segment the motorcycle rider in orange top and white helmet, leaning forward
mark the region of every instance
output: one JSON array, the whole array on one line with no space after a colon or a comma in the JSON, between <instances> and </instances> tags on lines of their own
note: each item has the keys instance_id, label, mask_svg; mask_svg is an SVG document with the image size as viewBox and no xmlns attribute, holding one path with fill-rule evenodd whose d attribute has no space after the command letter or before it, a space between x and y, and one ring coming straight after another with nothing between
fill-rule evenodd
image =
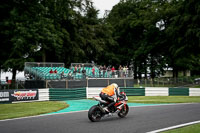
<instances>
[{"instance_id":1,"label":"motorcycle rider in orange top and white helmet, leaning forward","mask_svg":"<svg viewBox=\"0 0 200 133\"><path fill-rule=\"evenodd\" d=\"M116 101L120 97L120 90L116 83L112 83L107 87L103 88L101 93L99 94L102 100L109 102L108 106L104 107L106 112L110 112L110 107L115 105ZM114 97L113 97L114 96Z\"/></svg>"}]
</instances>

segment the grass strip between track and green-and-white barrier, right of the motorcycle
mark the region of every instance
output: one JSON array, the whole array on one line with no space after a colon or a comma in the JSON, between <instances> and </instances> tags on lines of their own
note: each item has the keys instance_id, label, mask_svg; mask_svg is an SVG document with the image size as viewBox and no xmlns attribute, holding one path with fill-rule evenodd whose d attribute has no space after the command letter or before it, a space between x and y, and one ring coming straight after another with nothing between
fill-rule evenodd
<instances>
[{"instance_id":1,"label":"grass strip between track and green-and-white barrier, right of the motorcycle","mask_svg":"<svg viewBox=\"0 0 200 133\"><path fill-rule=\"evenodd\" d=\"M200 103L200 96L129 96L130 103Z\"/></svg>"}]
</instances>

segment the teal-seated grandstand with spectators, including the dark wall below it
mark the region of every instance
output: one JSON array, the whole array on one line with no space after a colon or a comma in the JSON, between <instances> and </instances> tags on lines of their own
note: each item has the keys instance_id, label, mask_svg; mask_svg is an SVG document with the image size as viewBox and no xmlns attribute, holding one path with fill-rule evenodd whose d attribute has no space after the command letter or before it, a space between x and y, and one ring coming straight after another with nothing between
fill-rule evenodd
<instances>
[{"instance_id":1,"label":"teal-seated grandstand with spectators, including the dark wall below it","mask_svg":"<svg viewBox=\"0 0 200 133\"><path fill-rule=\"evenodd\" d=\"M117 82L123 87L133 86L133 72L125 66L116 70L114 66L99 66L93 63L26 62L25 88L76 88L88 86L106 86Z\"/></svg>"}]
</instances>

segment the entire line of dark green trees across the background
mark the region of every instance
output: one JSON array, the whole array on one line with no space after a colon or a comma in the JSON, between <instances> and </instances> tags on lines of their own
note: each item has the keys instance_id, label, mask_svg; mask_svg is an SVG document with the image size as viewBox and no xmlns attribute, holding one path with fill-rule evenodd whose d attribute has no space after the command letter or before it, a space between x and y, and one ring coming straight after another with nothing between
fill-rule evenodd
<instances>
[{"instance_id":1,"label":"entire line of dark green trees across the background","mask_svg":"<svg viewBox=\"0 0 200 133\"><path fill-rule=\"evenodd\" d=\"M128 65L134 77L166 68L200 74L199 0L121 0L98 18L91 0L0 2L0 67L24 62Z\"/></svg>"}]
</instances>

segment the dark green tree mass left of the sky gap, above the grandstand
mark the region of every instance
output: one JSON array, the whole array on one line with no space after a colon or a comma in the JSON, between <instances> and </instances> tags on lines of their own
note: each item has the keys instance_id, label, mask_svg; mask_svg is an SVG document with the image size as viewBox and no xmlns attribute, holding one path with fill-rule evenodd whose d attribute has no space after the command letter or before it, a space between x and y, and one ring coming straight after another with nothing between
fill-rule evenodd
<instances>
[{"instance_id":1,"label":"dark green tree mass left of the sky gap, above the grandstand","mask_svg":"<svg viewBox=\"0 0 200 133\"><path fill-rule=\"evenodd\" d=\"M28 61L98 61L114 45L89 0L6 1L0 10L1 66L15 73Z\"/></svg>"}]
</instances>

